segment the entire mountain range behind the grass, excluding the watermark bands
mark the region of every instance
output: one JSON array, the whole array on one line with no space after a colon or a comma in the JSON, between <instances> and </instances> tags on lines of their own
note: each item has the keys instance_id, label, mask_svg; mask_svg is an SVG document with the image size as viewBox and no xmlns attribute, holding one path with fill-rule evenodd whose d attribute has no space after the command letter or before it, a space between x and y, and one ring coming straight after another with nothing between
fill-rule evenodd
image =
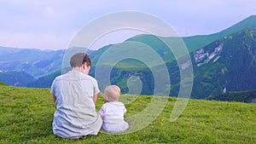
<instances>
[{"instance_id":1,"label":"entire mountain range behind the grass, excluding the watermark bands","mask_svg":"<svg viewBox=\"0 0 256 144\"><path fill-rule=\"evenodd\" d=\"M193 63L195 79L191 97L204 99L226 92L256 89L256 84L253 83L256 81L256 75L253 74L256 73L255 37L256 15L251 15L220 32L181 37L189 50ZM172 40L176 37L164 38ZM165 43L160 42L157 36L148 34L130 37L125 42L147 44L160 55L168 66L171 76L170 95L177 96L177 89L180 86L177 61L172 52L166 51ZM95 64L93 66L96 66L101 55L113 45L115 44L87 51ZM83 51L85 48L75 49ZM61 66L64 66L63 57L67 50L19 49L0 46L0 81L12 86L49 88L52 80L62 73ZM131 66L136 68L131 70ZM90 75L94 76L95 68L92 67ZM143 83L142 95L152 95L154 76L150 69L141 62L122 60L113 67L112 71L112 83L118 84L124 93L128 92L125 84L127 76L139 76Z\"/></svg>"}]
</instances>

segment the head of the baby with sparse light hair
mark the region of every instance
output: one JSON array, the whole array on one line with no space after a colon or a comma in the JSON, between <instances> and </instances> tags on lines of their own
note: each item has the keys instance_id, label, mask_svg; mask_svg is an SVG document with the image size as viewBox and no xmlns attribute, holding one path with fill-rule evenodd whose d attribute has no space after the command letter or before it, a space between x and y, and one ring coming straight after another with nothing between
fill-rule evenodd
<instances>
[{"instance_id":1,"label":"head of the baby with sparse light hair","mask_svg":"<svg viewBox=\"0 0 256 144\"><path fill-rule=\"evenodd\" d=\"M104 90L104 99L108 102L119 101L121 90L117 85L108 85Z\"/></svg>"}]
</instances>

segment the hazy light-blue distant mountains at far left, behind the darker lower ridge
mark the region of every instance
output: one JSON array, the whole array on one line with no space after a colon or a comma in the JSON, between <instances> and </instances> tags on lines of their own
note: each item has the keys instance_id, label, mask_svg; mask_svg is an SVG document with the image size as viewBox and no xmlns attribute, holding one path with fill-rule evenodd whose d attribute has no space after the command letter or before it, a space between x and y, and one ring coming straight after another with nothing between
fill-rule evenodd
<instances>
[{"instance_id":1,"label":"hazy light-blue distant mountains at far left, behind the darker lower ridge","mask_svg":"<svg viewBox=\"0 0 256 144\"><path fill-rule=\"evenodd\" d=\"M0 47L0 70L26 71L38 78L61 69L65 50L16 49Z\"/></svg>"}]
</instances>

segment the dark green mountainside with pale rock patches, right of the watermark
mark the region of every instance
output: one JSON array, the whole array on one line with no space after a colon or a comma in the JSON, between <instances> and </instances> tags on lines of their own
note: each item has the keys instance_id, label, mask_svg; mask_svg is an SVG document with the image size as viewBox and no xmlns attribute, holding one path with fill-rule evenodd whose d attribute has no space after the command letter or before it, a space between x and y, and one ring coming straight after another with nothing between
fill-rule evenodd
<instances>
[{"instance_id":1,"label":"dark green mountainside with pale rock patches, right of the watermark","mask_svg":"<svg viewBox=\"0 0 256 144\"><path fill-rule=\"evenodd\" d=\"M256 29L245 29L191 53L194 98L256 89Z\"/></svg>"}]
</instances>

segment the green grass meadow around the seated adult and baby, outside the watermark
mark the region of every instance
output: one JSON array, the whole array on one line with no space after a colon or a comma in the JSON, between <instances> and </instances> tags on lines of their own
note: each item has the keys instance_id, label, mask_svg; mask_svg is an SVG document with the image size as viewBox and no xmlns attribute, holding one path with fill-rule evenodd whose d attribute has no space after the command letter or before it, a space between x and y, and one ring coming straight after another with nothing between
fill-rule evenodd
<instances>
[{"instance_id":1,"label":"green grass meadow around the seated adult and baby, outside the watermark","mask_svg":"<svg viewBox=\"0 0 256 144\"><path fill-rule=\"evenodd\" d=\"M143 111L153 96L131 96L127 116ZM121 100L122 100L121 99ZM127 100L127 99L126 99ZM55 107L49 89L27 89L0 84L0 143L255 143L256 105L240 102L189 100L177 121L169 121L176 98L142 130L82 140L62 139L52 133ZM104 103L99 96L96 109ZM132 125L131 125L132 126Z\"/></svg>"}]
</instances>

